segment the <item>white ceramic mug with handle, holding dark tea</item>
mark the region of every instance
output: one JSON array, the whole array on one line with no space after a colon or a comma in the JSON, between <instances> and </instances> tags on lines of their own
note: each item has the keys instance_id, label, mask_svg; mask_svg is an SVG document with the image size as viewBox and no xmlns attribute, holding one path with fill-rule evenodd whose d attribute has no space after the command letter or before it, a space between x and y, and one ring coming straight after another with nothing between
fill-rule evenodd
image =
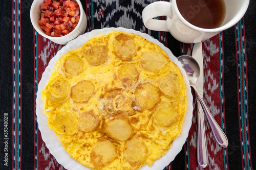
<instances>
[{"instance_id":1,"label":"white ceramic mug with handle, holding dark tea","mask_svg":"<svg viewBox=\"0 0 256 170\"><path fill-rule=\"evenodd\" d=\"M196 43L235 25L245 14L249 0L223 0L223 3L224 20L220 27L214 29L199 28L185 20L178 10L176 0L171 0L170 3L159 1L146 6L142 11L142 19L145 27L150 30L168 31L181 42ZM193 9L190 12L193 12ZM166 20L154 19L158 16L167 17Z\"/></svg>"}]
</instances>

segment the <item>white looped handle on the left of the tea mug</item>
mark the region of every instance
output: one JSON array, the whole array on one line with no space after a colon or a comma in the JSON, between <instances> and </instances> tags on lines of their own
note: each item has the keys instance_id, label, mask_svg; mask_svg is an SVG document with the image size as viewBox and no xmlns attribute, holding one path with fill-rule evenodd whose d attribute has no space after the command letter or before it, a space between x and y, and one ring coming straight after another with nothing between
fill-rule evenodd
<instances>
[{"instance_id":1,"label":"white looped handle on the left of the tea mug","mask_svg":"<svg viewBox=\"0 0 256 170\"><path fill-rule=\"evenodd\" d=\"M153 19L158 16L171 18L172 3L158 1L146 6L142 11L142 19L146 28L155 31L169 31L166 20Z\"/></svg>"}]
</instances>

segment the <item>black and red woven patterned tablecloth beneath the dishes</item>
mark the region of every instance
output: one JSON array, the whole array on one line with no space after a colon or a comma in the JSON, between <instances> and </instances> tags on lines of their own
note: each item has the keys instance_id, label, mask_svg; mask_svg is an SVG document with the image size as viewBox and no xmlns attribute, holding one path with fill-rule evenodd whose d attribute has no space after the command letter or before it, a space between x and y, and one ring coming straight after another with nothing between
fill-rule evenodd
<instances>
[{"instance_id":1,"label":"black and red woven patterned tablecloth beneath the dishes","mask_svg":"<svg viewBox=\"0 0 256 170\"><path fill-rule=\"evenodd\" d=\"M0 11L0 169L65 169L42 141L35 114L42 72L63 45L33 29L29 16L32 2L2 1ZM152 2L82 1L88 17L86 32L105 27L134 29L158 39L177 57L191 55L193 44L144 27L141 12ZM209 153L205 169L253 169L256 165L255 38L256 2L250 1L235 26L202 42L204 100L229 140L226 149L220 147L205 119ZM183 149L165 169L199 169L195 109Z\"/></svg>"}]
</instances>

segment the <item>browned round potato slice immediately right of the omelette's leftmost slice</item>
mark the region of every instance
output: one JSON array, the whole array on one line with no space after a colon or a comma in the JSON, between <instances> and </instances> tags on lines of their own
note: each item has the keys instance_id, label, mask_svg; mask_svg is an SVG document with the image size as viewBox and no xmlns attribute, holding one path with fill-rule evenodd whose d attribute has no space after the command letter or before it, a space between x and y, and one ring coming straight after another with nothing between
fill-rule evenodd
<instances>
[{"instance_id":1,"label":"browned round potato slice immediately right of the omelette's leftmost slice","mask_svg":"<svg viewBox=\"0 0 256 170\"><path fill-rule=\"evenodd\" d=\"M87 102L94 92L94 85L87 80L79 81L71 87L71 98L75 102Z\"/></svg>"}]
</instances>

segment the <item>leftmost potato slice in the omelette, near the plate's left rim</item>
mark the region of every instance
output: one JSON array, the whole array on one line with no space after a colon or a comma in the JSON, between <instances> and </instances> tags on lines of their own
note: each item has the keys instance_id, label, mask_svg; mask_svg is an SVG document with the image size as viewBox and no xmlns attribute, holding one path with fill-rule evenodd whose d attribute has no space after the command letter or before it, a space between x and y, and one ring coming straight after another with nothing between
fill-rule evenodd
<instances>
[{"instance_id":1,"label":"leftmost potato slice in the omelette, near the plate's left rim","mask_svg":"<svg viewBox=\"0 0 256 170\"><path fill-rule=\"evenodd\" d=\"M47 90L57 99L67 98L70 85L67 80L58 78L47 87Z\"/></svg>"}]
</instances>

